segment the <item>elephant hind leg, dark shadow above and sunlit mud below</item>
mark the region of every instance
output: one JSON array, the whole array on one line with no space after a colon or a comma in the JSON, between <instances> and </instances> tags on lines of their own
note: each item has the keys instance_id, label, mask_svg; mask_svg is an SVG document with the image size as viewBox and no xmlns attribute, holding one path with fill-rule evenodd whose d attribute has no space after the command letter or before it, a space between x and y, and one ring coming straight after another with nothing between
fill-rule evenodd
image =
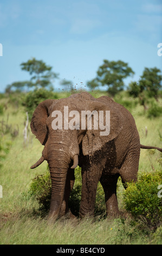
<instances>
[{"instance_id":1,"label":"elephant hind leg, dark shadow above and sunlit mud below","mask_svg":"<svg viewBox=\"0 0 162 256\"><path fill-rule=\"evenodd\" d=\"M119 216L118 200L116 197L116 184L119 174L112 176L101 175L100 182L105 192L106 216Z\"/></svg>"}]
</instances>

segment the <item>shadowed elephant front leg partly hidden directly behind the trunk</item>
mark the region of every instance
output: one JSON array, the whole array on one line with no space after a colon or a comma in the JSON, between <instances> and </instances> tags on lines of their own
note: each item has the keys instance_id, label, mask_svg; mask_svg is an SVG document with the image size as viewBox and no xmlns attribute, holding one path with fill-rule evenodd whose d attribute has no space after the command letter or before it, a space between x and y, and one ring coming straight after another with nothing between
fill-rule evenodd
<instances>
[{"instance_id":1,"label":"shadowed elephant front leg partly hidden directly behind the trunk","mask_svg":"<svg viewBox=\"0 0 162 256\"><path fill-rule=\"evenodd\" d=\"M75 217L68 208L68 200L70 197L70 192L73 189L74 182L75 182L74 169L69 168L68 172L67 172L66 185L64 188L64 198L63 198L63 202L61 205L60 216L63 216L65 214L69 213L70 217Z\"/></svg>"}]
</instances>

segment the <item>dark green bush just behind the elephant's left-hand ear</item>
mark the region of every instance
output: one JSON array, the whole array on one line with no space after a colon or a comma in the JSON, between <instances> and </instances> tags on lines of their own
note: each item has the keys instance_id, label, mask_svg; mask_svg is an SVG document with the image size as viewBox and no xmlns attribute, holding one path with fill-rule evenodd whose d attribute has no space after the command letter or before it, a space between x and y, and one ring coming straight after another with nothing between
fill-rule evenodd
<instances>
[{"instance_id":1,"label":"dark green bush just behind the elephant's left-hand ear","mask_svg":"<svg viewBox=\"0 0 162 256\"><path fill-rule=\"evenodd\" d=\"M30 120L38 104L48 99L58 99L58 95L44 88L35 89L25 95L22 105L25 106L25 111L28 112Z\"/></svg>"}]
</instances>

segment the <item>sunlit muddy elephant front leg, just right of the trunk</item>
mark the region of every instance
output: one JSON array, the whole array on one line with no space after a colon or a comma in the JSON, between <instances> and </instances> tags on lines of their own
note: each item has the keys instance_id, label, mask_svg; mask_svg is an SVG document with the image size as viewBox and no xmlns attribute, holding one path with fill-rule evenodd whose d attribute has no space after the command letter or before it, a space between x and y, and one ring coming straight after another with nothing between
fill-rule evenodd
<instances>
[{"instance_id":1,"label":"sunlit muddy elephant front leg, just right of the trunk","mask_svg":"<svg viewBox=\"0 0 162 256\"><path fill-rule=\"evenodd\" d=\"M82 166L80 217L94 215L96 190L102 171L99 169L95 164L91 164L88 168Z\"/></svg>"}]
</instances>

